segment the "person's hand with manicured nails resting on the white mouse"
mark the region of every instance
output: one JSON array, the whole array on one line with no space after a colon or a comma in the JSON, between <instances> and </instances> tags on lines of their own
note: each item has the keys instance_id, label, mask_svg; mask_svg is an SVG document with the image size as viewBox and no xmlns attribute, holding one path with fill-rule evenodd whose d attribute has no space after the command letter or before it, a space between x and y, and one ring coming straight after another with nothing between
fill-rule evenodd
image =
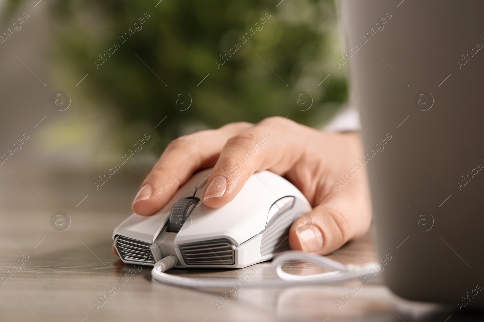
<instances>
[{"instance_id":1,"label":"person's hand with manicured nails resting on the white mouse","mask_svg":"<svg viewBox=\"0 0 484 322\"><path fill-rule=\"evenodd\" d=\"M264 135L270 139L263 148L240 164L237 158ZM355 132L326 133L282 117L266 118L256 125L231 123L170 142L141 185L133 210L139 215L161 210L195 171L211 167L202 202L221 207L239 193L254 172L267 169L286 177L314 207L305 223L298 220L292 224L291 248L324 255L362 236L370 225L366 169L347 176L344 186L335 184L354 168L360 155L361 139Z\"/></svg>"}]
</instances>

